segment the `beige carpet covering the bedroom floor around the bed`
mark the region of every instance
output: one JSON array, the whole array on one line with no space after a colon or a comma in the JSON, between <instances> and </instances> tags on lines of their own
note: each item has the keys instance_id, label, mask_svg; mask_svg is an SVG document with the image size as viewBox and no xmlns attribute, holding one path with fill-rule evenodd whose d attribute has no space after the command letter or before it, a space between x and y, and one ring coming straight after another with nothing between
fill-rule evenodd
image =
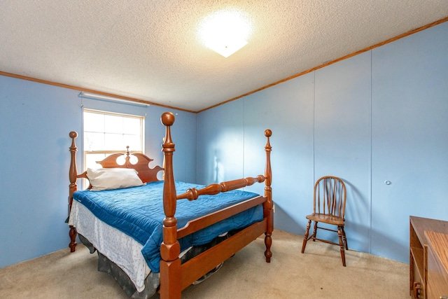
<instances>
[{"instance_id":1,"label":"beige carpet covering the bedroom floor around the bed","mask_svg":"<svg viewBox=\"0 0 448 299\"><path fill-rule=\"evenodd\" d=\"M302 254L302 236L275 230L272 237L271 263L256 239L182 298L409 298L405 263L346 251L342 267L338 246L309 242ZM127 298L82 245L0 269L0 298L75 297Z\"/></svg>"}]
</instances>

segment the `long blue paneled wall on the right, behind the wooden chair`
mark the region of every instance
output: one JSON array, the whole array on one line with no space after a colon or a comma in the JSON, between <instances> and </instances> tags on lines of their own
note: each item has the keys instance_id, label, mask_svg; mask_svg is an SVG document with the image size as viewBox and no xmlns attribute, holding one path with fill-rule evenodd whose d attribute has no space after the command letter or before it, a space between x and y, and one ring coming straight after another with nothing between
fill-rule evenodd
<instances>
[{"instance_id":1,"label":"long blue paneled wall on the right, behind the wooden chair","mask_svg":"<svg viewBox=\"0 0 448 299\"><path fill-rule=\"evenodd\" d=\"M303 235L314 181L340 176L349 248L407 262L409 215L448 221L447 49L445 22L200 113L197 181L262 174L269 128L276 228Z\"/></svg>"}]
</instances>

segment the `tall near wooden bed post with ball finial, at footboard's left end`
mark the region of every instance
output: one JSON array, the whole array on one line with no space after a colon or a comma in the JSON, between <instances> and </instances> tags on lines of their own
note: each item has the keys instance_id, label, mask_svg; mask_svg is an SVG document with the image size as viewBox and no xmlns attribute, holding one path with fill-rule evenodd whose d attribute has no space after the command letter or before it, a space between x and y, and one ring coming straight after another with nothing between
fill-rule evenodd
<instances>
[{"instance_id":1,"label":"tall near wooden bed post with ball finial, at footboard's left end","mask_svg":"<svg viewBox=\"0 0 448 299\"><path fill-rule=\"evenodd\" d=\"M165 112L160 120L166 126L165 142L162 151L165 155L165 183L163 187L163 242L160 246L160 298L181 298L181 245L177 241L176 185L173 174L174 143L170 127L174 123L174 114Z\"/></svg>"}]
</instances>

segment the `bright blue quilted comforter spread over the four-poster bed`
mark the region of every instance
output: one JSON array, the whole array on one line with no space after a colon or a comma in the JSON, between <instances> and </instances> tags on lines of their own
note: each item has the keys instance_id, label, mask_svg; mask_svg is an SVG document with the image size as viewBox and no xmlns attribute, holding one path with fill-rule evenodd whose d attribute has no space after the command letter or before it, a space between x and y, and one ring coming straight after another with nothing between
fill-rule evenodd
<instances>
[{"instance_id":1,"label":"bright blue quilted comforter spread over the four-poster bed","mask_svg":"<svg viewBox=\"0 0 448 299\"><path fill-rule=\"evenodd\" d=\"M176 182L176 192L184 193L188 188L204 186ZM144 186L104 191L76 191L73 200L77 200L103 222L125 232L143 245L143 253L153 272L160 272L160 244L165 213L163 211L163 181L147 183ZM210 214L233 204L248 200L258 194L241 190L232 190L219 195L202 195L198 200L178 200L176 207L177 227L182 228L190 220ZM243 211L224 221L179 239L181 251L190 246L211 242L214 237L244 228L261 221L262 206Z\"/></svg>"}]
</instances>

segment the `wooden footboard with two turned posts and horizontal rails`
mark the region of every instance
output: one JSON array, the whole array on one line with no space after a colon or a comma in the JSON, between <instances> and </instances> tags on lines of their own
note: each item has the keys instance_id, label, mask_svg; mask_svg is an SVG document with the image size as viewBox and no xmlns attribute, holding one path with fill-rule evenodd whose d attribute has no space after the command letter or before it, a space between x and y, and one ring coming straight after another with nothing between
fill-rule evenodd
<instances>
[{"instance_id":1,"label":"wooden footboard with two turned posts and horizontal rails","mask_svg":"<svg viewBox=\"0 0 448 299\"><path fill-rule=\"evenodd\" d=\"M160 246L160 254L162 256L162 260L160 261L160 297L162 299L173 299L181 298L181 291L184 288L262 235L262 233L265 233L266 262L270 262L272 257L272 252L270 250L272 245L272 230L274 228L271 188L272 170L270 162L270 152L272 148L269 144L269 137L271 137L272 132L270 130L265 131L267 143L265 146L266 165L264 175L211 184L200 190L192 188L187 190L186 193L176 195L172 165L175 146L172 142L170 129L174 124L174 114L169 112L163 113L161 120L163 125L166 126L166 134L165 143L162 144L162 151L165 153L165 186L163 193L165 220L163 222L163 243L162 246ZM175 217L176 200L197 200L200 195L214 195L228 190L250 186L253 183L262 183L263 181L265 182L264 197L255 197L251 200L241 202L240 204L235 204L227 209L198 218L195 221L190 221L186 227L181 228L180 230L177 229L177 220ZM178 239L221 221L224 218L238 214L240 211L255 207L257 204L263 204L262 221L248 226L248 228L241 230L236 235L233 235L229 239L226 239L220 244L181 265L181 260L179 259L181 246Z\"/></svg>"}]
</instances>

